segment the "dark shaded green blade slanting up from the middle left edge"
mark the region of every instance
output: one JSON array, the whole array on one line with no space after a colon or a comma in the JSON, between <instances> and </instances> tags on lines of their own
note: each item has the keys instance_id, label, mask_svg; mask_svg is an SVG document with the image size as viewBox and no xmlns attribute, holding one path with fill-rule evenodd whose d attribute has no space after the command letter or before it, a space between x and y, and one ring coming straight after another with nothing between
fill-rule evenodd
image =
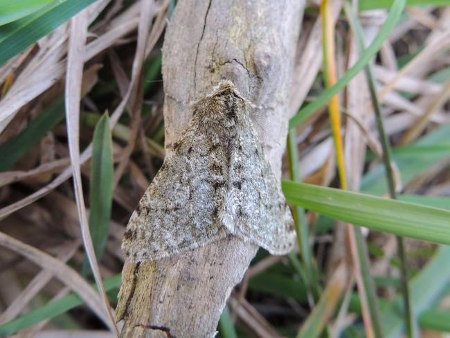
<instances>
[{"instance_id":1,"label":"dark shaded green blade slanting up from the middle left edge","mask_svg":"<svg viewBox=\"0 0 450 338\"><path fill-rule=\"evenodd\" d=\"M55 100L44 112L41 112L37 118L30 121L22 132L0 145L0 172L10 170L63 118L64 101L60 98Z\"/></svg>"}]
</instances>

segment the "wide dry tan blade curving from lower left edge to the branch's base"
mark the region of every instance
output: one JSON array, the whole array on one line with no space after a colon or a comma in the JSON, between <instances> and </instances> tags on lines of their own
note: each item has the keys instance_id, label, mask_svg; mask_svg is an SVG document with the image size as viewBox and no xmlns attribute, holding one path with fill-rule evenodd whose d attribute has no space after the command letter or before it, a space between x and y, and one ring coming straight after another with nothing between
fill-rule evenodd
<instances>
[{"instance_id":1,"label":"wide dry tan blade curving from lower left edge to the branch's base","mask_svg":"<svg viewBox=\"0 0 450 338\"><path fill-rule=\"evenodd\" d=\"M102 303L97 292L87 283L87 281L82 278L75 270L71 269L60 260L57 260L53 256L48 255L43 251L31 247L24 242L16 240L15 238L0 232L0 245L6 247L21 256L25 256L33 263L39 265L48 272L51 272L56 278L58 278L62 283L70 287L74 292L76 292L82 300L91 308L91 310L100 318L102 321L109 326L111 330L110 321L105 311L105 308L100 305Z\"/></svg>"}]
</instances>

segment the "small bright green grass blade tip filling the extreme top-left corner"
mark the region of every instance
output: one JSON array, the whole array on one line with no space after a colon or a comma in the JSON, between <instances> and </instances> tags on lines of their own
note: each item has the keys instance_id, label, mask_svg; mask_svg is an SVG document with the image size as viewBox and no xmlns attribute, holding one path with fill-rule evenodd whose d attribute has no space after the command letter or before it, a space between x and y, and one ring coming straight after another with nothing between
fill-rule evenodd
<instances>
[{"instance_id":1,"label":"small bright green grass blade tip filling the extreme top-left corner","mask_svg":"<svg viewBox=\"0 0 450 338\"><path fill-rule=\"evenodd\" d=\"M55 0L2 0L0 2L0 26L26 17Z\"/></svg>"}]
</instances>

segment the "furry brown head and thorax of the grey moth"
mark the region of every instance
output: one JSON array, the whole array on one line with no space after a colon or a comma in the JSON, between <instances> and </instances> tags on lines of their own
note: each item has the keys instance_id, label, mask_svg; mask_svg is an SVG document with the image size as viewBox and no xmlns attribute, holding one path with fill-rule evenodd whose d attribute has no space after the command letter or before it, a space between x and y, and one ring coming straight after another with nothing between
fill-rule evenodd
<instances>
[{"instance_id":1,"label":"furry brown head and thorax of the grey moth","mask_svg":"<svg viewBox=\"0 0 450 338\"><path fill-rule=\"evenodd\" d=\"M213 91L194 103L199 122L210 127L233 127L249 114L249 104L239 94L231 80L222 80Z\"/></svg>"}]
</instances>

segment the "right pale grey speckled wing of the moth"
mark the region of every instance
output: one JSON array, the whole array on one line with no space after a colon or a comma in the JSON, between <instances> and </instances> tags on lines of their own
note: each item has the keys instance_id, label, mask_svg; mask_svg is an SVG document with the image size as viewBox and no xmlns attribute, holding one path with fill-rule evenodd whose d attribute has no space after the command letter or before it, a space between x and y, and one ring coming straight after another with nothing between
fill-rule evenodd
<instances>
[{"instance_id":1,"label":"right pale grey speckled wing of the moth","mask_svg":"<svg viewBox=\"0 0 450 338\"><path fill-rule=\"evenodd\" d=\"M294 247L294 220L253 125L246 123L231 151L231 189L224 203L230 220L225 225L272 254L288 253Z\"/></svg>"}]
</instances>

